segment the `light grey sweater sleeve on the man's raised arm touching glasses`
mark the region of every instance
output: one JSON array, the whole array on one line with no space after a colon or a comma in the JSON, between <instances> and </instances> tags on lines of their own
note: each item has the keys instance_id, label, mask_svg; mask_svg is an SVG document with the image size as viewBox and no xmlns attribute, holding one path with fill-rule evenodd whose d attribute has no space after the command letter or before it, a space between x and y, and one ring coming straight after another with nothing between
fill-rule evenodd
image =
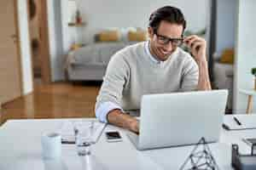
<instances>
[{"instance_id":1,"label":"light grey sweater sleeve on the man's raised arm touching glasses","mask_svg":"<svg viewBox=\"0 0 256 170\"><path fill-rule=\"evenodd\" d=\"M180 91L194 91L197 89L199 69L195 60L190 56L183 67L183 78Z\"/></svg>"}]
</instances>

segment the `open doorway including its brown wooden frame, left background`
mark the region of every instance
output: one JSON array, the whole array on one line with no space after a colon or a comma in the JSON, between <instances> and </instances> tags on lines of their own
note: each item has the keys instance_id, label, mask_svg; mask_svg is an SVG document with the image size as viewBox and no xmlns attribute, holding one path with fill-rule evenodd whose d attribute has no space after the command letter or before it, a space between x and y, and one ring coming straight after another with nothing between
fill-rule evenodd
<instances>
[{"instance_id":1,"label":"open doorway including its brown wooden frame, left background","mask_svg":"<svg viewBox=\"0 0 256 170\"><path fill-rule=\"evenodd\" d=\"M51 82L47 1L27 0L34 83ZM33 16L33 17L32 17ZM39 81L41 82L41 81Z\"/></svg>"}]
</instances>

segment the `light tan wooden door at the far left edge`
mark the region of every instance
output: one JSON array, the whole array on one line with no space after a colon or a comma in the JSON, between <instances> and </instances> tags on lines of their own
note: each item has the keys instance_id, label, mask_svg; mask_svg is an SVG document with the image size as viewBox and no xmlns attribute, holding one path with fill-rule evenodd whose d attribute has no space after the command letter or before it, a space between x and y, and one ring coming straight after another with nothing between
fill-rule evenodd
<instances>
[{"instance_id":1,"label":"light tan wooden door at the far left edge","mask_svg":"<svg viewBox=\"0 0 256 170\"><path fill-rule=\"evenodd\" d=\"M16 0L0 1L0 102L21 96Z\"/></svg>"}]
</instances>

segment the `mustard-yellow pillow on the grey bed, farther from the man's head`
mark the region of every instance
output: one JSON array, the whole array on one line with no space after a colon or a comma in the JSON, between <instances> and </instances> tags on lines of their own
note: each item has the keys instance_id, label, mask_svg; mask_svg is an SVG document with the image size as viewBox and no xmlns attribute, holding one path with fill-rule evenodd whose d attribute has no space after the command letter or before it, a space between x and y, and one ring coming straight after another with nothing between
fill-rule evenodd
<instances>
[{"instance_id":1,"label":"mustard-yellow pillow on the grey bed, farther from the man's head","mask_svg":"<svg viewBox=\"0 0 256 170\"><path fill-rule=\"evenodd\" d=\"M118 42L120 39L120 32L118 30L102 31L98 34L99 42Z\"/></svg>"}]
</instances>

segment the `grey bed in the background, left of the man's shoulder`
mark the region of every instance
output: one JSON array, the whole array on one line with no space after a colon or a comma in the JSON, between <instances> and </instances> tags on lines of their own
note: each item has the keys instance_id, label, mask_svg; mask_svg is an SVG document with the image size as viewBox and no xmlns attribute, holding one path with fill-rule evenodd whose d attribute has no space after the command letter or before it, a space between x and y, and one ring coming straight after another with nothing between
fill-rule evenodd
<instances>
[{"instance_id":1,"label":"grey bed in the background, left of the man's shoulder","mask_svg":"<svg viewBox=\"0 0 256 170\"><path fill-rule=\"evenodd\" d=\"M68 81L102 81L110 58L136 42L96 42L67 54Z\"/></svg>"}]
</instances>

